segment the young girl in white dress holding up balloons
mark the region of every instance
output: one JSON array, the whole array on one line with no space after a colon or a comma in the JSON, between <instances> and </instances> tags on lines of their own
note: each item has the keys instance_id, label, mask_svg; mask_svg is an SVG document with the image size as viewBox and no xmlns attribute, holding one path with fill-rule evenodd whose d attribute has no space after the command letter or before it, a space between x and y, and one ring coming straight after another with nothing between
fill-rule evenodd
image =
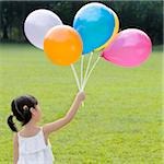
<instances>
[{"instance_id":1,"label":"young girl in white dress holding up balloons","mask_svg":"<svg viewBox=\"0 0 164 164\"><path fill-rule=\"evenodd\" d=\"M37 99L31 95L20 96L12 101L12 114L8 118L8 125L16 132L13 138L13 163L14 164L52 164L54 156L48 137L51 132L69 124L74 117L82 101L84 92L79 92L70 110L63 118L38 127L42 110ZM15 117L23 126L17 132Z\"/></svg>"}]
</instances>

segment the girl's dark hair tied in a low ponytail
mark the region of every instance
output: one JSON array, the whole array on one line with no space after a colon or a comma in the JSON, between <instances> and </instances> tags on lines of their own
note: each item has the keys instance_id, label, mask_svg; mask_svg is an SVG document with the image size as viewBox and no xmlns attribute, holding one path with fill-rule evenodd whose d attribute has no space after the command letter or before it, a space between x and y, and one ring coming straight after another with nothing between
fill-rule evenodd
<instances>
[{"instance_id":1,"label":"girl's dark hair tied in a low ponytail","mask_svg":"<svg viewBox=\"0 0 164 164\"><path fill-rule=\"evenodd\" d=\"M8 117L8 125L12 131L17 131L13 117L21 121L22 126L26 125L32 118L31 108L35 108L37 104L37 99L32 95L23 95L11 102L12 114Z\"/></svg>"}]
</instances>

